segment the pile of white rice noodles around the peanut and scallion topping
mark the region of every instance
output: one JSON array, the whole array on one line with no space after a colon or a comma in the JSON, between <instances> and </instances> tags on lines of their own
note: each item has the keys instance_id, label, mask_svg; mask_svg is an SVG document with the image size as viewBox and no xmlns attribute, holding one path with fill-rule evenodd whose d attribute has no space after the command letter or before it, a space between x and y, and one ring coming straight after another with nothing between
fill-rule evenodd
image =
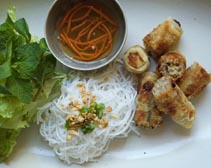
<instances>
[{"instance_id":1,"label":"pile of white rice noodles around the peanut and scallion topping","mask_svg":"<svg viewBox=\"0 0 211 168\"><path fill-rule=\"evenodd\" d=\"M104 153L110 141L116 137L127 137L131 131L135 111L135 77L129 74L119 61L94 72L72 72L72 78L64 81L61 95L54 101L39 108L37 121L41 135L49 142L56 155L67 164L82 164L95 161ZM71 98L81 101L76 86L81 81L86 89L96 95L96 102L111 106L112 112L106 113L108 127L96 127L90 134L78 135L66 140L66 116L70 114L65 107Z\"/></svg>"}]
</instances>

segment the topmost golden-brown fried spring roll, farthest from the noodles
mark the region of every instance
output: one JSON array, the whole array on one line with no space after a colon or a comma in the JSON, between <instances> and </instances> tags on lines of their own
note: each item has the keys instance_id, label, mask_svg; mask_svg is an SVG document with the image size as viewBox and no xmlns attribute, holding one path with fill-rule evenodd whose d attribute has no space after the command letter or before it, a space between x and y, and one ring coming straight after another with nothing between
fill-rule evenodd
<instances>
[{"instance_id":1,"label":"topmost golden-brown fried spring roll, farthest from the noodles","mask_svg":"<svg viewBox=\"0 0 211 168\"><path fill-rule=\"evenodd\" d=\"M178 21L167 18L144 37L143 42L148 54L159 59L180 40L182 32Z\"/></svg>"}]
</instances>

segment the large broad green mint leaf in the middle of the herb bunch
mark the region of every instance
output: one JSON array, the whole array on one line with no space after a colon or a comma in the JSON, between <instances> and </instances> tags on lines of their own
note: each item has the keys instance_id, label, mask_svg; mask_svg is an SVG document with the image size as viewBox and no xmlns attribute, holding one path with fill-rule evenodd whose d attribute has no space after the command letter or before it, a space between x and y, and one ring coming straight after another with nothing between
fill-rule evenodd
<instances>
[{"instance_id":1,"label":"large broad green mint leaf in the middle of the herb bunch","mask_svg":"<svg viewBox=\"0 0 211 168\"><path fill-rule=\"evenodd\" d=\"M30 79L34 75L43 51L37 43L30 43L15 50L15 58L12 68L17 76L22 79Z\"/></svg>"}]
</instances>

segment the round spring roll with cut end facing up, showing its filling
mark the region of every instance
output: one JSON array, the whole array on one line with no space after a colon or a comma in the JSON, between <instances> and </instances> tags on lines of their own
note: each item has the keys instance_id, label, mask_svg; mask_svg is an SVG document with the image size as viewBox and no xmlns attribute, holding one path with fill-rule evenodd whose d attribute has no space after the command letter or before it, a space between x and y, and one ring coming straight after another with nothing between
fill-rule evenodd
<instances>
[{"instance_id":1,"label":"round spring roll with cut end facing up, showing its filling","mask_svg":"<svg viewBox=\"0 0 211 168\"><path fill-rule=\"evenodd\" d=\"M186 70L186 59L176 51L170 51L161 56L156 68L159 76L171 76L174 81L181 78Z\"/></svg>"}]
</instances>

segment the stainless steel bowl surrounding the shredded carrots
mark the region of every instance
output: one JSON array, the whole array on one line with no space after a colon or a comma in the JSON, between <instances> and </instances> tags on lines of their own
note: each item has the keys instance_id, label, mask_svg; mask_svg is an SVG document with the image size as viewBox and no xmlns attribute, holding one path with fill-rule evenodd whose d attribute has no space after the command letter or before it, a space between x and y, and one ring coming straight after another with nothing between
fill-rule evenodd
<instances>
[{"instance_id":1,"label":"stainless steel bowl surrounding the shredded carrots","mask_svg":"<svg viewBox=\"0 0 211 168\"><path fill-rule=\"evenodd\" d=\"M98 4L101 3L103 6L108 7L110 9L113 19L115 19L119 26L118 33L116 35L117 38L114 42L113 50L110 52L109 55L102 59L90 62L78 61L76 59L73 59L71 55L69 55L70 53L64 50L63 44L58 39L58 22L65 15L67 10L71 8L71 6L83 1L84 0L55 1L50 7L46 19L45 36L49 49L58 61L60 61L62 64L69 68L85 71L98 69L107 65L120 53L120 50L122 49L126 40L127 25L123 9L117 0L109 0L109 2L107 0L86 0L86 2L89 1L89 3L92 4L96 2Z\"/></svg>"}]
</instances>

